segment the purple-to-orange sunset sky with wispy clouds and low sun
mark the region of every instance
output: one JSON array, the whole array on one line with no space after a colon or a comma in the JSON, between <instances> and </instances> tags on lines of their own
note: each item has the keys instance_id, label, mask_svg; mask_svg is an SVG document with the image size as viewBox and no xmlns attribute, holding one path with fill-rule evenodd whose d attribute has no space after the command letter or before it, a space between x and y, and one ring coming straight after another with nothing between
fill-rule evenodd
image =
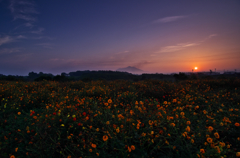
<instances>
[{"instance_id":1,"label":"purple-to-orange sunset sky with wispy clouds and low sun","mask_svg":"<svg viewBox=\"0 0 240 158\"><path fill-rule=\"evenodd\" d=\"M0 74L240 71L239 0L0 0Z\"/></svg>"}]
</instances>

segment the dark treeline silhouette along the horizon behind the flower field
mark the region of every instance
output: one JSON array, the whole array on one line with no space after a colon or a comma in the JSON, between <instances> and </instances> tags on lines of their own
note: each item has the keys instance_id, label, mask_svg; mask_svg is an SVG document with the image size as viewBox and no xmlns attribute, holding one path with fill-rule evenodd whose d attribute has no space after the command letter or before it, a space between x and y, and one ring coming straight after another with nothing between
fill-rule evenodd
<instances>
[{"instance_id":1,"label":"dark treeline silhouette along the horizon behind the flower field","mask_svg":"<svg viewBox=\"0 0 240 158\"><path fill-rule=\"evenodd\" d=\"M130 80L130 81L141 81L141 80L165 80L165 81L181 81L181 80L196 80L196 79L227 79L227 78L240 78L240 73L224 73L224 74L213 74L213 73L182 73L179 74L142 74L134 75L128 72L120 71L76 71L70 73L61 73L61 75L54 76L50 73L43 72L29 72L28 76L13 76L13 75L2 75L0 74L0 80L5 81L78 81L84 82L95 81L95 80Z\"/></svg>"}]
</instances>

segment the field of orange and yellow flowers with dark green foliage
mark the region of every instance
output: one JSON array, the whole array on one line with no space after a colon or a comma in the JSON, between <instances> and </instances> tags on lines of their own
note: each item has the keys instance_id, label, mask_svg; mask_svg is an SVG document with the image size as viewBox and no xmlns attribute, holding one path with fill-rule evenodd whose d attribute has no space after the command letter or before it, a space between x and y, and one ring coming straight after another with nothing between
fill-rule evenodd
<instances>
[{"instance_id":1,"label":"field of orange and yellow flowers with dark green foliage","mask_svg":"<svg viewBox=\"0 0 240 158\"><path fill-rule=\"evenodd\" d=\"M0 157L238 157L240 79L0 82Z\"/></svg>"}]
</instances>

